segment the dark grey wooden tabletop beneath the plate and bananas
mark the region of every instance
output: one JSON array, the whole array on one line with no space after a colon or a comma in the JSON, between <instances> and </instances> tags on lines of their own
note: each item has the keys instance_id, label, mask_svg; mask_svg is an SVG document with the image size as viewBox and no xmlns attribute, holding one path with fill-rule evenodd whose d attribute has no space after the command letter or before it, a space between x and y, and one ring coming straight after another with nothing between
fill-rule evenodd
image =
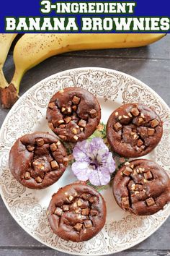
<instances>
[{"instance_id":1,"label":"dark grey wooden tabletop beneath the plate and bananas","mask_svg":"<svg viewBox=\"0 0 170 256\"><path fill-rule=\"evenodd\" d=\"M170 106L170 35L151 46L132 49L81 51L54 56L28 71L21 83L20 95L45 77L76 67L117 69L142 80ZM6 79L14 72L12 51L4 66ZM0 126L8 110L0 108ZM0 256L54 256L66 254L45 247L28 235L10 216L0 199ZM144 242L115 256L170 255L170 218Z\"/></svg>"}]
</instances>

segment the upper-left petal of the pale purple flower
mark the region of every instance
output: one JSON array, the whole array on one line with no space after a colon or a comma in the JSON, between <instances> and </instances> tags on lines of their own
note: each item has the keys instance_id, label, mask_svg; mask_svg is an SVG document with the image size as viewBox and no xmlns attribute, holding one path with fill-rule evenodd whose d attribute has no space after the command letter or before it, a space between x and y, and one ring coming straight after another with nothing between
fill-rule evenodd
<instances>
[{"instance_id":1,"label":"upper-left petal of the pale purple flower","mask_svg":"<svg viewBox=\"0 0 170 256\"><path fill-rule=\"evenodd\" d=\"M86 154L87 150L89 150L89 142L86 140L77 142L76 146L73 148L73 157L76 161L89 161L89 157Z\"/></svg>"}]
</instances>

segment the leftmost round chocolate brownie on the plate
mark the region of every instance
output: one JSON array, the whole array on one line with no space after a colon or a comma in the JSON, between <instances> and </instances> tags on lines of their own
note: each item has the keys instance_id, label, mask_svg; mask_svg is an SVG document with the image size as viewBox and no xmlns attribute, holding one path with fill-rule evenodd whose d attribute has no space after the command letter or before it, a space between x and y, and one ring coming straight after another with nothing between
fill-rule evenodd
<instances>
[{"instance_id":1,"label":"leftmost round chocolate brownie on the plate","mask_svg":"<svg viewBox=\"0 0 170 256\"><path fill-rule=\"evenodd\" d=\"M57 137L46 132L20 137L9 153L9 168L15 179L31 189L57 182L66 166L66 149Z\"/></svg>"}]
</instances>

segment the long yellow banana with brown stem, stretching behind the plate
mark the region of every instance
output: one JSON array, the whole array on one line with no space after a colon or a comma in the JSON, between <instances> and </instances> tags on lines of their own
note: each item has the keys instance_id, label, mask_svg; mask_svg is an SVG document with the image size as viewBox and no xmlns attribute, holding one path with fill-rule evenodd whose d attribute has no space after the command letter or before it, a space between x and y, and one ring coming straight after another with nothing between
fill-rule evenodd
<instances>
[{"instance_id":1,"label":"long yellow banana with brown stem, stretching behind the plate","mask_svg":"<svg viewBox=\"0 0 170 256\"><path fill-rule=\"evenodd\" d=\"M19 85L28 69L41 61L68 51L146 46L165 34L24 34L14 48L15 72L9 85L1 68L1 103L10 108L18 98ZM1 42L0 47L5 43ZM5 47L4 47L5 48ZM4 56L8 52L4 50ZM0 53L1 55L1 53ZM2 57L0 57L1 62ZM4 82L3 82L4 81Z\"/></svg>"}]
</instances>

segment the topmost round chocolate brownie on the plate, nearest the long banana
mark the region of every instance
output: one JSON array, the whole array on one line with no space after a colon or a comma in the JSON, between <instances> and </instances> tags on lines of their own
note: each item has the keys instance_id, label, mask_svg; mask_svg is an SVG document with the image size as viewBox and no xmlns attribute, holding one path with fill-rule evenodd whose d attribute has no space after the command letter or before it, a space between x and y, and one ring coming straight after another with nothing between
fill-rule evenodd
<instances>
[{"instance_id":1,"label":"topmost round chocolate brownie on the plate, nearest the long banana","mask_svg":"<svg viewBox=\"0 0 170 256\"><path fill-rule=\"evenodd\" d=\"M100 118L97 98L82 88L60 90L48 104L48 125L63 141L85 140L95 131Z\"/></svg>"}]
</instances>

